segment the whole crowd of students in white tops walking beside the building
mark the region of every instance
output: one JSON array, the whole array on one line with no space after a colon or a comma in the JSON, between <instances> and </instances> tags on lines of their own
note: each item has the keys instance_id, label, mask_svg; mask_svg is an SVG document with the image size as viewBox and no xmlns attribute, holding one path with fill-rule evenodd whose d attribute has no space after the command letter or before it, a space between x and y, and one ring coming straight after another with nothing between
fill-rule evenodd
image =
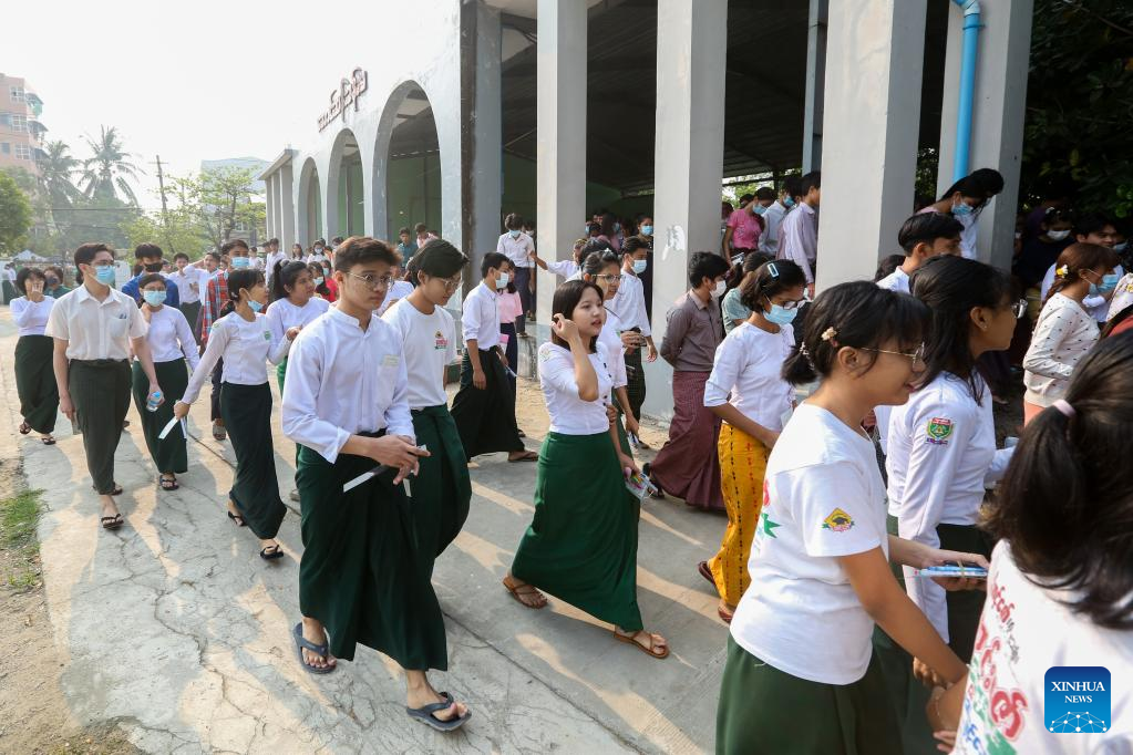
<instances>
[{"instance_id":1,"label":"whole crowd of students in white tops walking beside the building","mask_svg":"<svg viewBox=\"0 0 1133 755\"><path fill-rule=\"evenodd\" d=\"M721 248L690 255L659 345L645 215L596 213L559 260L511 214L475 271L424 224L395 243L282 252L273 239L262 256L233 240L172 265L140 244L121 290L113 250L83 244L74 291L52 293L58 268L14 282L19 429L50 445L58 411L73 419L100 524L116 530L130 396L156 484L174 490L185 419L210 383L213 437L237 458L228 516L278 563L275 366L301 512L296 659L325 675L359 644L384 653L404 670L408 715L442 731L471 711L427 676L448 668L431 577L468 516L469 463L504 453L537 473L503 587L527 609L548 595L574 606L658 660L668 641L637 598L642 503L726 514L715 555L690 564L730 625L717 752L1062 752L1043 721L1046 668L1122 659L1133 625L1133 488L1117 457L1133 422L1124 237L1053 197L1021 217L1013 271L978 261L980 214L1003 188L982 169L894 229L901 252L874 281L816 297L820 178L723 213ZM516 379L540 271L563 280L533 352L550 415L535 452ZM458 336L446 306L461 290ZM673 419L639 466L644 371L658 357ZM1020 401L1013 370L1023 427L999 447L995 406ZM1083 735L1090 747L1133 737L1123 705L1115 696L1107 732Z\"/></svg>"}]
</instances>

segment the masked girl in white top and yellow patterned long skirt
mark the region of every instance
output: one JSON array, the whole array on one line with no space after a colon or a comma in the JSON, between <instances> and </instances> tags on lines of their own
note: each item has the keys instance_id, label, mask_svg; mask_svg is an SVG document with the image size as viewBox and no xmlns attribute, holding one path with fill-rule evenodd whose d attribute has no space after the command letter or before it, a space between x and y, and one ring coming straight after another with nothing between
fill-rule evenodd
<instances>
[{"instance_id":1,"label":"masked girl in white top and yellow patterned long skirt","mask_svg":"<svg viewBox=\"0 0 1133 755\"><path fill-rule=\"evenodd\" d=\"M806 285L802 268L787 259L765 263L744 277L739 291L751 315L716 349L705 384L705 406L722 420L716 449L727 529L719 551L700 561L698 570L716 587L716 614L725 623L751 582L748 559L759 524L764 470L794 405L794 388L782 372L794 348L792 323Z\"/></svg>"}]
</instances>

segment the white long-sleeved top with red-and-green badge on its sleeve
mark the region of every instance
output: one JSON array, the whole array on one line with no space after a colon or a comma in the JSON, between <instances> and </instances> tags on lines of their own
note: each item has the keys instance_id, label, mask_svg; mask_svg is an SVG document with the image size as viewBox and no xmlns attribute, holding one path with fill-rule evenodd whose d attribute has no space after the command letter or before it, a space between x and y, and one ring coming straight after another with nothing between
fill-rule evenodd
<instances>
[{"instance_id":1,"label":"white long-sleeved top with red-and-green badge on its sleeve","mask_svg":"<svg viewBox=\"0 0 1133 755\"><path fill-rule=\"evenodd\" d=\"M996 451L991 392L977 378L982 404L968 380L942 372L894 406L889 419L889 513L897 532L932 548L940 547L938 524L976 524L983 491L1003 479L1014 448ZM948 641L944 587L913 576L905 567L905 590Z\"/></svg>"}]
</instances>

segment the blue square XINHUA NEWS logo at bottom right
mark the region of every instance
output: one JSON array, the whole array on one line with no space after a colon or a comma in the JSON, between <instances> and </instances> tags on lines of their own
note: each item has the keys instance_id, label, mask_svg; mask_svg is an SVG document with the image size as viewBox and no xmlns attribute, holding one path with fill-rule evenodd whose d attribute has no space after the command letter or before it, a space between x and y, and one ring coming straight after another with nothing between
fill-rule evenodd
<instances>
[{"instance_id":1,"label":"blue square XINHUA NEWS logo at bottom right","mask_svg":"<svg viewBox=\"0 0 1133 755\"><path fill-rule=\"evenodd\" d=\"M1109 730L1109 669L1104 666L1051 666L1043 685L1042 722L1054 733Z\"/></svg>"}]
</instances>

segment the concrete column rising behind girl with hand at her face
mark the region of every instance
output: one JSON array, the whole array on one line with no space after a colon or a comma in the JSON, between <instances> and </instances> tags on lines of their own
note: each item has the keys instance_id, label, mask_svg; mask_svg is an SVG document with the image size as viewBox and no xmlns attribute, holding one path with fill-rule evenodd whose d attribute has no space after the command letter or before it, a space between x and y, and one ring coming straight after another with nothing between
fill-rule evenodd
<instances>
[{"instance_id":1,"label":"concrete column rising behind girl with hand at her face","mask_svg":"<svg viewBox=\"0 0 1133 755\"><path fill-rule=\"evenodd\" d=\"M536 101L536 248L570 259L586 218L587 3L539 0ZM559 278L536 268L538 341L548 337ZM528 325L530 331L530 325Z\"/></svg>"}]
</instances>

